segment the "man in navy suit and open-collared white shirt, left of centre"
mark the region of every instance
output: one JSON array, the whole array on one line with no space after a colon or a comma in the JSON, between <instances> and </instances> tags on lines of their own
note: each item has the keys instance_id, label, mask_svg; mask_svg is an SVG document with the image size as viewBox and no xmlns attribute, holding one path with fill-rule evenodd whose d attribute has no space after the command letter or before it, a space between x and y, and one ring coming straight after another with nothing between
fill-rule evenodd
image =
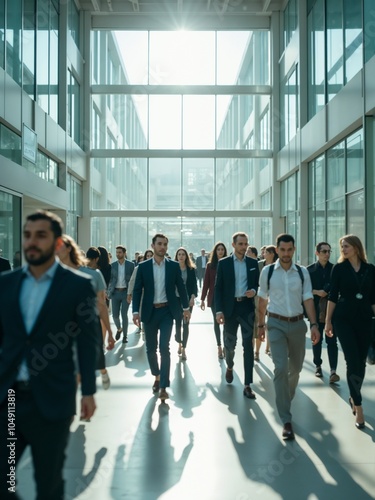
<instances>
[{"instance_id":1,"label":"man in navy suit and open-collared white shirt, left of centre","mask_svg":"<svg viewBox=\"0 0 375 500\"><path fill-rule=\"evenodd\" d=\"M180 266L178 262L165 257L168 250L168 238L163 234L156 234L152 238L151 246L154 257L141 262L138 266L133 290L133 321L140 327L139 312L143 290L142 323L145 329L147 358L151 373L155 377L152 389L155 393L158 393L160 389L159 397L165 401L169 397L166 388L170 386L169 342L173 320L181 319L181 304L184 321L189 321L190 310ZM180 298L176 295L176 288ZM160 331L160 368L156 354L158 331Z\"/></svg>"}]
</instances>

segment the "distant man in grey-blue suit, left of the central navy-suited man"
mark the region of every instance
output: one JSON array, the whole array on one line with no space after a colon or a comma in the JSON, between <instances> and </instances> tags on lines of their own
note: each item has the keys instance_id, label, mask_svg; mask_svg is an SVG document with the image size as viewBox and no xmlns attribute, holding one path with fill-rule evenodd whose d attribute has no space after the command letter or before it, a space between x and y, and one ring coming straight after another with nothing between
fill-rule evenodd
<instances>
[{"instance_id":1,"label":"distant man in grey-blue suit, left of the central navy-suited man","mask_svg":"<svg viewBox=\"0 0 375 500\"><path fill-rule=\"evenodd\" d=\"M112 300L112 317L115 322L117 332L115 339L122 337L122 343L128 341L128 286L131 275L134 271L134 264L126 258L126 248L123 245L116 247L117 261L111 264L111 279L108 285L108 298ZM121 320L120 321L120 311Z\"/></svg>"}]
</instances>

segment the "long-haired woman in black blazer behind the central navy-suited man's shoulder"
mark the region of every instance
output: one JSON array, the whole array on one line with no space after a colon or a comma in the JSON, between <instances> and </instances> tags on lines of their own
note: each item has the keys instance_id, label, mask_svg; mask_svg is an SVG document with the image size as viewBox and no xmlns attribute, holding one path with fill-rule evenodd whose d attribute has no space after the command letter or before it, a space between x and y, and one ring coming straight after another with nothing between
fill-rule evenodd
<instances>
[{"instance_id":1,"label":"long-haired woman in black blazer behind the central navy-suited man's shoulder","mask_svg":"<svg viewBox=\"0 0 375 500\"><path fill-rule=\"evenodd\" d=\"M174 257L180 264L182 280L185 284L188 299L189 299L189 308L190 312L193 310L195 297L198 295L198 286L197 286L197 276L195 274L195 264L191 261L191 258L185 248L180 247L177 249L176 255ZM177 293L177 292L176 292ZM183 323L183 325L182 325ZM181 339L181 325L182 325L182 339ZM181 307L181 318L176 320L176 335L175 340L178 342L178 355L181 356L181 359L187 359L186 357L186 344L189 338L189 324L183 322L182 316L182 307Z\"/></svg>"}]
</instances>

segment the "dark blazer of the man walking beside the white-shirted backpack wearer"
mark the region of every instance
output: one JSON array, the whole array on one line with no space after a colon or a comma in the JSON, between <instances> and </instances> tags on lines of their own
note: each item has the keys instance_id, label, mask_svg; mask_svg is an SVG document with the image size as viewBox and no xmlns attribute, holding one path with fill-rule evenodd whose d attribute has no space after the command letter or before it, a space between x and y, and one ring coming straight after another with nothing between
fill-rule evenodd
<instances>
[{"instance_id":1,"label":"dark blazer of the man walking beside the white-shirted backpack wearer","mask_svg":"<svg viewBox=\"0 0 375 500\"><path fill-rule=\"evenodd\" d=\"M246 257L247 269L247 289L258 290L259 285L259 267L258 261L251 257ZM234 294L235 294L235 274L233 256L220 259L215 282L215 310L222 312L224 316L229 317L232 315L234 308ZM249 311L254 310L254 299L248 299Z\"/></svg>"}]
</instances>

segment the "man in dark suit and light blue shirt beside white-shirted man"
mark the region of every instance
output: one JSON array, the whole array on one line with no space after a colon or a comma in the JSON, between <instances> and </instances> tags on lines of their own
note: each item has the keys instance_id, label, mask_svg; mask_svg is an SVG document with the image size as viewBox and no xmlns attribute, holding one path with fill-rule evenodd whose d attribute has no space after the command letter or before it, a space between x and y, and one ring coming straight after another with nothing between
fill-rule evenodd
<instances>
[{"instance_id":1,"label":"man in dark suit and light blue shirt beside white-shirted man","mask_svg":"<svg viewBox=\"0 0 375 500\"><path fill-rule=\"evenodd\" d=\"M237 330L241 326L245 370L243 393L247 398L255 399L250 384L253 382L254 297L259 282L259 267L256 259L246 257L247 246L245 233L233 235L233 254L219 260L217 266L214 300L216 321L224 325L225 379L228 384L233 381Z\"/></svg>"}]
</instances>

